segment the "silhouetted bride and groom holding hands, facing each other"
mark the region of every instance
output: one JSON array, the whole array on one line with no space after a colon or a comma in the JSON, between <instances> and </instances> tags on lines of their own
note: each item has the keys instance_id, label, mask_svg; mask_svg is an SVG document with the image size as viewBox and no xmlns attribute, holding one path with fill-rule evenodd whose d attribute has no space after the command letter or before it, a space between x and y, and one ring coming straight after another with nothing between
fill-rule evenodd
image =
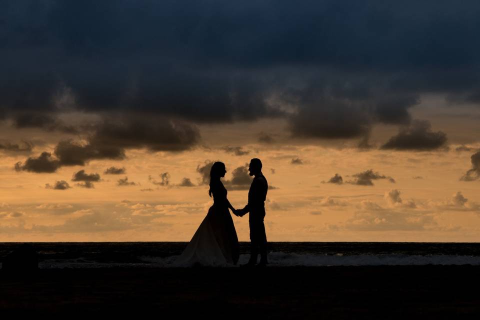
<instances>
[{"instance_id":1,"label":"silhouetted bride and groom holding hands, facing each other","mask_svg":"<svg viewBox=\"0 0 480 320\"><path fill-rule=\"evenodd\" d=\"M210 169L210 189L213 205L208 209L203 221L177 259L180 265L227 265L236 264L239 256L238 237L230 215L230 209L236 216L248 216L250 226L250 259L242 266L254 266L260 253L257 266L265 266L266 234L263 218L265 217L265 198L268 184L261 172L260 159L250 160L248 171L254 176L248 190L248 203L243 209L235 209L226 195L227 191L220 178L225 176L225 164L215 162Z\"/></svg>"}]
</instances>

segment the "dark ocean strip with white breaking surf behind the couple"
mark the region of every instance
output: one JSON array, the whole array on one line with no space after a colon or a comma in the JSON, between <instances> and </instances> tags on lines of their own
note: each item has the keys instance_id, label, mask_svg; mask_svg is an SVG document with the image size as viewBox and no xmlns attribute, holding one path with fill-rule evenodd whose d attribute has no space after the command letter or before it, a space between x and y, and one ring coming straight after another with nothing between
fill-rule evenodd
<instances>
[{"instance_id":1,"label":"dark ocean strip with white breaking surf behind the couple","mask_svg":"<svg viewBox=\"0 0 480 320\"><path fill-rule=\"evenodd\" d=\"M0 243L0 260L22 243ZM39 267L171 267L187 242L29 242ZM240 242L239 263L248 260ZM272 266L480 265L480 243L269 242Z\"/></svg>"}]
</instances>

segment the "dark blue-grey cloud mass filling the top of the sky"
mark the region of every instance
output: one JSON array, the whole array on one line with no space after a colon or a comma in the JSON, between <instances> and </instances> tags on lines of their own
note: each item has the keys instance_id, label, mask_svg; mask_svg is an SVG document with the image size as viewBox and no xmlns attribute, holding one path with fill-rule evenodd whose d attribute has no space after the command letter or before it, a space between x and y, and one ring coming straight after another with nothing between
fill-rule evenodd
<instances>
[{"instance_id":1,"label":"dark blue-grey cloud mass filling the top of the sky","mask_svg":"<svg viewBox=\"0 0 480 320\"><path fill-rule=\"evenodd\" d=\"M480 4L472 0L24 0L3 1L0 12L8 43L0 108L34 114L14 116L18 127L50 127L53 116L33 111L54 113L71 100L84 111L192 122L283 116L295 136L351 138L377 122L408 123L424 92L480 101L480 44L471 40ZM197 137L183 132L169 144L168 135L155 142L143 128L117 126L98 138L183 150ZM112 134L125 130L136 142Z\"/></svg>"}]
</instances>

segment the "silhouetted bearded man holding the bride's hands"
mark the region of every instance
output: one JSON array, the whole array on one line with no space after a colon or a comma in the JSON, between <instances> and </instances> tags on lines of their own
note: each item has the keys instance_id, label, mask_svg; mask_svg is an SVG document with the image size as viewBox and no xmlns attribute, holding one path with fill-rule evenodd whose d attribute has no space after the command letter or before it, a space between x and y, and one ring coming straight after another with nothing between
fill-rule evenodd
<instances>
[{"instance_id":1,"label":"silhouetted bearded man holding the bride's hands","mask_svg":"<svg viewBox=\"0 0 480 320\"><path fill-rule=\"evenodd\" d=\"M243 209L236 210L238 216L250 213L248 224L250 226L250 259L244 266L253 266L256 264L258 251L260 252L260 262L258 266L265 266L266 259L266 234L263 218L265 217L265 198L268 190L266 178L261 173L260 159L253 158L248 166L250 176L255 177L251 181L248 190L248 204Z\"/></svg>"}]
</instances>

